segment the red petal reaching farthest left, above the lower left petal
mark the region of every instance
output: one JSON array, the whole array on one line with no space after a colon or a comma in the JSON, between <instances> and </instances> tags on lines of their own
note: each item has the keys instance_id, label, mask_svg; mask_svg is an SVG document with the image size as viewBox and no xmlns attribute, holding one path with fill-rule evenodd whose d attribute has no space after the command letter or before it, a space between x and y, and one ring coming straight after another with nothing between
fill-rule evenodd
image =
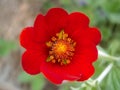
<instances>
[{"instance_id":1,"label":"red petal reaching farthest left, above the lower left petal","mask_svg":"<svg viewBox=\"0 0 120 90\"><path fill-rule=\"evenodd\" d=\"M20 44L26 49L40 49L40 44L33 38L33 28L24 28L20 34Z\"/></svg>"}]
</instances>

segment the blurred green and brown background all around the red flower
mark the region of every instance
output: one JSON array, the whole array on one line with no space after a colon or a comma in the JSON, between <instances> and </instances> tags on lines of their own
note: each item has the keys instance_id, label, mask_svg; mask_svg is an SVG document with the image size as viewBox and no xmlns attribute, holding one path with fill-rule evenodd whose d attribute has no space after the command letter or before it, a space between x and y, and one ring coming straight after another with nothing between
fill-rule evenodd
<instances>
[{"instance_id":1,"label":"blurred green and brown background all around the red flower","mask_svg":"<svg viewBox=\"0 0 120 90\"><path fill-rule=\"evenodd\" d=\"M23 72L19 45L22 28L38 13L62 7L83 12L102 33L96 72L85 82L53 85L43 75ZM0 0L0 90L120 90L120 0Z\"/></svg>"}]
</instances>

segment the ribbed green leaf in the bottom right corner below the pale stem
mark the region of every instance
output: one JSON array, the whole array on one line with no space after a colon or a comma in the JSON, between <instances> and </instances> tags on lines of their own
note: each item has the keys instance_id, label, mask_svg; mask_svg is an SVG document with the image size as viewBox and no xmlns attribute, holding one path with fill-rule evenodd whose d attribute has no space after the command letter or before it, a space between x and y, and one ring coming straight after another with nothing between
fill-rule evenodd
<instances>
[{"instance_id":1,"label":"ribbed green leaf in the bottom right corner below the pale stem","mask_svg":"<svg viewBox=\"0 0 120 90\"><path fill-rule=\"evenodd\" d=\"M119 90L120 89L120 68L114 64L111 72L102 81L102 90Z\"/></svg>"}]
</instances>

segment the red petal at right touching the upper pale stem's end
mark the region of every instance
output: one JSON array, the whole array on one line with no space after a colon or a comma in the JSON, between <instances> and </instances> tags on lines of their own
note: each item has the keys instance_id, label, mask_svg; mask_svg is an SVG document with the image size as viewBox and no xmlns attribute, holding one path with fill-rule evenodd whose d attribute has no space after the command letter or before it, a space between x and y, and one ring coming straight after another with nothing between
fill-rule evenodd
<instances>
[{"instance_id":1,"label":"red petal at right touching the upper pale stem's end","mask_svg":"<svg viewBox=\"0 0 120 90\"><path fill-rule=\"evenodd\" d=\"M98 50L96 48L96 44L90 40L88 37L82 37L80 34L80 38L77 38L76 35L76 47L75 54L79 55L79 58L85 60L86 62L94 62L98 58ZM84 34L83 34L84 36Z\"/></svg>"}]
</instances>

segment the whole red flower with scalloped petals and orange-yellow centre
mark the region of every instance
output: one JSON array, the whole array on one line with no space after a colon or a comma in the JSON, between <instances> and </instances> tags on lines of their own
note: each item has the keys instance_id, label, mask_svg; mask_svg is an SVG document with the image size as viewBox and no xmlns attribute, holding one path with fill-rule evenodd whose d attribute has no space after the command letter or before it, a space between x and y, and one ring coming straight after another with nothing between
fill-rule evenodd
<instances>
[{"instance_id":1,"label":"whole red flower with scalloped petals and orange-yellow centre","mask_svg":"<svg viewBox=\"0 0 120 90\"><path fill-rule=\"evenodd\" d=\"M94 73L92 63L98 57L100 40L99 30L89 27L86 15L52 8L46 15L39 14L34 26L23 29L20 35L26 48L23 69L32 75L41 72L56 84L87 80Z\"/></svg>"}]
</instances>

